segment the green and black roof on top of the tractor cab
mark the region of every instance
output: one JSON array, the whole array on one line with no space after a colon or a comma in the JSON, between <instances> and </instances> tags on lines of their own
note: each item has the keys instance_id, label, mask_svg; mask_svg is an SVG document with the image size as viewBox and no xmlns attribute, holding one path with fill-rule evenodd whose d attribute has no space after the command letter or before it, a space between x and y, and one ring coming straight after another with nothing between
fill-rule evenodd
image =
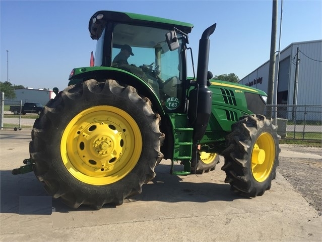
<instances>
[{"instance_id":1,"label":"green and black roof on top of the tractor cab","mask_svg":"<svg viewBox=\"0 0 322 242\"><path fill-rule=\"evenodd\" d=\"M153 17L143 14L114 12L114 11L98 11L89 21L88 29L92 39L98 39L108 22L137 24L142 26L151 26L157 28L165 28L172 30L174 27L188 34L194 25L190 23L180 22L176 20Z\"/></svg>"}]
</instances>

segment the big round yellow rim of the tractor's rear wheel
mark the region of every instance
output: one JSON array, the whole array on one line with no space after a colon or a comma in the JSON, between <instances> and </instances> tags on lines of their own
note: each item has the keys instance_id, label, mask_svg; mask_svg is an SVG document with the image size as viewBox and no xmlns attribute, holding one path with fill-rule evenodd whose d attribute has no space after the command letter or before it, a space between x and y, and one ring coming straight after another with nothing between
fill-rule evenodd
<instances>
[{"instance_id":1,"label":"big round yellow rim of the tractor's rear wheel","mask_svg":"<svg viewBox=\"0 0 322 242\"><path fill-rule=\"evenodd\" d=\"M105 185L125 177L137 164L142 136L125 111L96 106L76 115L63 131L60 153L67 170L78 180Z\"/></svg>"}]
</instances>

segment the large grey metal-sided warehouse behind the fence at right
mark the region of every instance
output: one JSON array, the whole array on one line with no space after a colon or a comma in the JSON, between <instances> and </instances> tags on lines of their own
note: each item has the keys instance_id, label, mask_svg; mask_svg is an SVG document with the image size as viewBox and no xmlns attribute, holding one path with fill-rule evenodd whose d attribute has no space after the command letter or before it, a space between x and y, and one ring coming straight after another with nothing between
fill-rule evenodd
<instances>
[{"instance_id":1,"label":"large grey metal-sided warehouse behind the fence at right","mask_svg":"<svg viewBox=\"0 0 322 242\"><path fill-rule=\"evenodd\" d=\"M295 78L297 54L300 60ZM278 58L275 80L277 62ZM277 104L322 105L322 40L291 43L280 52L279 63ZM267 61L239 83L268 92L269 64Z\"/></svg>"}]
</instances>

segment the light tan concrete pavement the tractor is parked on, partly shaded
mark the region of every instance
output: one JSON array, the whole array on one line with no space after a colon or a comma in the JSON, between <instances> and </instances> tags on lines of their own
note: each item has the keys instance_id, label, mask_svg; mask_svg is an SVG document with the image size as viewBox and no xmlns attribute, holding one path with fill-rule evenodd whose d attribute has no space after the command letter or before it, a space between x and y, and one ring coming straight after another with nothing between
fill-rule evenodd
<instances>
[{"instance_id":1,"label":"light tan concrete pavement the tractor is parked on, partly shaded","mask_svg":"<svg viewBox=\"0 0 322 242\"><path fill-rule=\"evenodd\" d=\"M123 205L70 209L48 197L33 173L11 175L29 158L30 134L31 128L0 131L1 241L322 239L322 218L280 173L264 196L246 199L223 182L223 159L215 171L189 176L170 175L163 160L142 194ZM288 154L282 149L280 159Z\"/></svg>"}]
</instances>

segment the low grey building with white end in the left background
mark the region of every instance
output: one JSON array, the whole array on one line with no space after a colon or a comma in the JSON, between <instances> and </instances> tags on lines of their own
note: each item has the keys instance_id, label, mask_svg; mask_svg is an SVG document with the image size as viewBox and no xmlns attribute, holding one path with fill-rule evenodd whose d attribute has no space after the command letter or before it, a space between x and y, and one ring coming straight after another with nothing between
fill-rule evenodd
<instances>
[{"instance_id":1,"label":"low grey building with white end in the left background","mask_svg":"<svg viewBox=\"0 0 322 242\"><path fill-rule=\"evenodd\" d=\"M50 99L55 97L52 90L38 90L38 89L16 89L16 100L22 100L24 103L40 103L45 105Z\"/></svg>"}]
</instances>

